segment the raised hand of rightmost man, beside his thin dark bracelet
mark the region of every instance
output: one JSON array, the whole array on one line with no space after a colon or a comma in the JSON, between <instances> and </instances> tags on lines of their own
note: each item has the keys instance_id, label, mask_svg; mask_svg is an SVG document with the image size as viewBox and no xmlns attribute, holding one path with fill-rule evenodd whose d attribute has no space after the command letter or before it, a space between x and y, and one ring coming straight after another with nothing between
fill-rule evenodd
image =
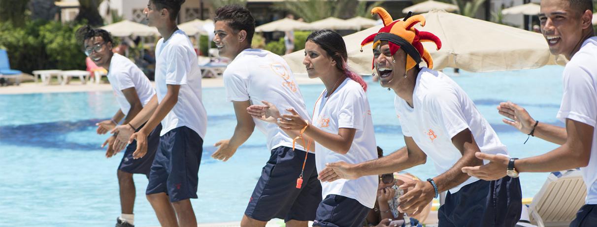
<instances>
[{"instance_id":1,"label":"raised hand of rightmost man, beside his thin dark bracelet","mask_svg":"<svg viewBox=\"0 0 597 227\"><path fill-rule=\"evenodd\" d=\"M530 134L533 130L535 120L521 106L512 102L504 102L497 106L497 110L498 113L508 118L501 119L507 125L515 127L524 134Z\"/></svg>"}]
</instances>

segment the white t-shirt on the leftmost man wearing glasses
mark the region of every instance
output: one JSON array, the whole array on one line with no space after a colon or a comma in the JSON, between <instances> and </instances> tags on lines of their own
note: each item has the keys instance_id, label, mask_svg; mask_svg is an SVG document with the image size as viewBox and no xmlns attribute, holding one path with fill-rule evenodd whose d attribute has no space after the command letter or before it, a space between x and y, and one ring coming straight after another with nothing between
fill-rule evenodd
<instances>
[{"instance_id":1,"label":"white t-shirt on the leftmost man wearing glasses","mask_svg":"<svg viewBox=\"0 0 597 227\"><path fill-rule=\"evenodd\" d=\"M122 90L134 87L137 91L137 96L141 101L141 105L145 106L151 97L155 94L155 90L149 79L145 74L131 62L130 59L120 54L114 54L110 60L110 68L108 69L108 81L112 85L116 102L120 106L121 111L126 115L131 109L131 104L128 103L127 98L124 97Z\"/></svg>"}]
</instances>

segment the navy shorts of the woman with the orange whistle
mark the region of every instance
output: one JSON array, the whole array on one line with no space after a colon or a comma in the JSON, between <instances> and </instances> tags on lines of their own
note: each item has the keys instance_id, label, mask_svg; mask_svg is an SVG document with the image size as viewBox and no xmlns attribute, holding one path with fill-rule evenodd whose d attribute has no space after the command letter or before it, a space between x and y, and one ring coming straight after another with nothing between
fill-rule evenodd
<instances>
[{"instance_id":1,"label":"navy shorts of the woman with the orange whistle","mask_svg":"<svg viewBox=\"0 0 597 227\"><path fill-rule=\"evenodd\" d=\"M353 198L328 195L317 207L313 226L362 227L370 210Z\"/></svg>"}]
</instances>

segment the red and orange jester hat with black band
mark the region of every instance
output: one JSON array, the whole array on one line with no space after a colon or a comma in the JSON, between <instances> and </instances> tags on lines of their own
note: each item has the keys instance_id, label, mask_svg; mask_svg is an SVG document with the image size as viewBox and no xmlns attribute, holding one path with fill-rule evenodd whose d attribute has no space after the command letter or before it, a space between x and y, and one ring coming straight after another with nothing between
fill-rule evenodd
<instances>
[{"instance_id":1,"label":"red and orange jester hat with black band","mask_svg":"<svg viewBox=\"0 0 597 227\"><path fill-rule=\"evenodd\" d=\"M361 51L364 45L370 44L371 42L373 42L373 49L375 49L381 41L387 41L390 45L390 53L392 56L394 56L396 51L400 48L407 53L406 71L418 65L421 62L421 59L425 60L427 68L433 68L433 60L431 59L429 52L423 48L421 42L435 42L435 45L438 47L437 50L442 47L442 42L432 33L422 32L413 27L419 22L421 23L421 26L425 26L425 18L423 15L419 14L411 16L412 13L409 12L404 18L404 21L396 20L394 22L392 16L390 16L390 14L383 8L375 7L371 10L372 15L376 13L381 20L383 20L384 27L381 27L379 32L368 36L361 42ZM374 65L371 67L373 69Z\"/></svg>"}]
</instances>

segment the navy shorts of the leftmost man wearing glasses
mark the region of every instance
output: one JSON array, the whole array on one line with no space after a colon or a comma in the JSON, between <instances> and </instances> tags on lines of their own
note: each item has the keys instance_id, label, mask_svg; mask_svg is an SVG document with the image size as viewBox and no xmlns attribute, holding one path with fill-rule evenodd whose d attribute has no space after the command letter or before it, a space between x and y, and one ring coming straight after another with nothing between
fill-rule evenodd
<instances>
[{"instance_id":1,"label":"navy shorts of the leftmost man wearing glasses","mask_svg":"<svg viewBox=\"0 0 597 227\"><path fill-rule=\"evenodd\" d=\"M143 125L141 125L141 127L143 127ZM139 127L139 129L141 129L141 127ZM155 157L155 151L158 150L160 131L162 131L162 124L158 124L158 127L155 127L153 131L149 133L149 136L147 136L147 153L143 158L133 158L133 152L137 149L137 140L133 140L133 143L128 145L125 149L120 165L118 165L118 170L127 173L145 174L149 177L149 171L151 170L153 158Z\"/></svg>"}]
</instances>

